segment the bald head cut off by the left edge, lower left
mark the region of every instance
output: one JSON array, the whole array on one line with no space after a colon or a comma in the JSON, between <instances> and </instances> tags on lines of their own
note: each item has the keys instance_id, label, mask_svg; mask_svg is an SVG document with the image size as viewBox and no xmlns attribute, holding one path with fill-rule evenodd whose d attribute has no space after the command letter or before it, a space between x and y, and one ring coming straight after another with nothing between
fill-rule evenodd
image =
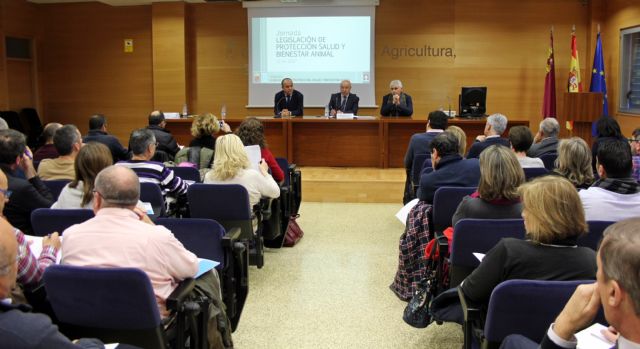
<instances>
[{"instance_id":1,"label":"bald head cut off by the left edge, lower left","mask_svg":"<svg viewBox=\"0 0 640 349\"><path fill-rule=\"evenodd\" d=\"M18 242L13 229L4 218L0 218L0 299L9 297L15 287L18 272L17 253Z\"/></svg>"}]
</instances>

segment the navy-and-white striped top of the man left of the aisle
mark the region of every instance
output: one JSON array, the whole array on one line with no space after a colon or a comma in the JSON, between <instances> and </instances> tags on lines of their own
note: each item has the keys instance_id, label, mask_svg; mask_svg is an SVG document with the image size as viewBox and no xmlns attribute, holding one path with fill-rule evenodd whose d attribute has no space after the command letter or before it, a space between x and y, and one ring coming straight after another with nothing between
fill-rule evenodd
<instances>
[{"instance_id":1,"label":"navy-and-white striped top of the man left of the aisle","mask_svg":"<svg viewBox=\"0 0 640 349\"><path fill-rule=\"evenodd\" d=\"M140 183L155 183L160 186L163 196L180 197L187 195L186 182L176 176L173 170L161 162L129 160L120 161L117 165L132 169L140 179Z\"/></svg>"}]
</instances>

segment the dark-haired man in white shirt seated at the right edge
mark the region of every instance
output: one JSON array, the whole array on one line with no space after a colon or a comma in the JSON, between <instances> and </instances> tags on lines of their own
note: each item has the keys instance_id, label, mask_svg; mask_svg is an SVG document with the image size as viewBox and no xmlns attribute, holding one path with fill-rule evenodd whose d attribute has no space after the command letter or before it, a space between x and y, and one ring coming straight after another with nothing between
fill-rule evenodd
<instances>
[{"instance_id":1,"label":"dark-haired man in white shirt seated at the right edge","mask_svg":"<svg viewBox=\"0 0 640 349\"><path fill-rule=\"evenodd\" d=\"M626 141L609 139L598 145L600 179L580 191L587 220L620 221L640 216L640 184L631 178L631 150Z\"/></svg>"}]
</instances>

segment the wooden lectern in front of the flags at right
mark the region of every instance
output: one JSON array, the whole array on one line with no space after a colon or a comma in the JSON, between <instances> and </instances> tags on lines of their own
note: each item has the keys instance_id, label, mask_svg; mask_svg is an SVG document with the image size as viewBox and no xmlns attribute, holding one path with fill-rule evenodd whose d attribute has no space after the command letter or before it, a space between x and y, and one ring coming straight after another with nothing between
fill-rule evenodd
<instances>
[{"instance_id":1,"label":"wooden lectern in front of the flags at right","mask_svg":"<svg viewBox=\"0 0 640 349\"><path fill-rule=\"evenodd\" d=\"M563 101L563 111L558 116L560 137L580 137L591 146L591 125L602 116L602 93L565 92ZM573 131L567 130L567 121L573 121Z\"/></svg>"}]
</instances>

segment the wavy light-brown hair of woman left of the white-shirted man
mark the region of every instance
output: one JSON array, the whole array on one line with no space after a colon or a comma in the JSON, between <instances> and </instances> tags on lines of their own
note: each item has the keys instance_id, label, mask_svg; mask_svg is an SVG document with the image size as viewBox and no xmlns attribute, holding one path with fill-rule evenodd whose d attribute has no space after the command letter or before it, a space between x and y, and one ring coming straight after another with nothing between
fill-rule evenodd
<instances>
[{"instance_id":1,"label":"wavy light-brown hair of woman left of the white-shirted man","mask_svg":"<svg viewBox=\"0 0 640 349\"><path fill-rule=\"evenodd\" d=\"M587 142L579 137L560 140L556 168L550 174L568 179L576 189L589 188L594 176Z\"/></svg>"}]
</instances>

